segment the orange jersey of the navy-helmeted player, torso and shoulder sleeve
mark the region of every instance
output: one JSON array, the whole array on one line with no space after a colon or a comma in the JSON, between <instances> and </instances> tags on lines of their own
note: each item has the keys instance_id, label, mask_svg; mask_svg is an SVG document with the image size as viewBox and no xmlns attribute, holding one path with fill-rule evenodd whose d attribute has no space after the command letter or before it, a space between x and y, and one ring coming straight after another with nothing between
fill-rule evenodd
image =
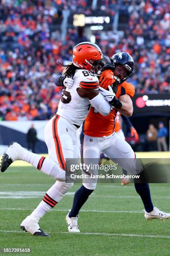
<instances>
[{"instance_id":1,"label":"orange jersey of the navy-helmeted player, torso and shoulder sleeve","mask_svg":"<svg viewBox=\"0 0 170 256\"><path fill-rule=\"evenodd\" d=\"M116 97L119 98L122 95L128 94L132 98L134 93L135 88L133 85L128 82L123 82L117 87ZM98 113L95 108L91 107L85 118L83 133L92 137L109 136L113 133L115 128L116 113L117 109L113 108L109 115L104 116Z\"/></svg>"}]
</instances>

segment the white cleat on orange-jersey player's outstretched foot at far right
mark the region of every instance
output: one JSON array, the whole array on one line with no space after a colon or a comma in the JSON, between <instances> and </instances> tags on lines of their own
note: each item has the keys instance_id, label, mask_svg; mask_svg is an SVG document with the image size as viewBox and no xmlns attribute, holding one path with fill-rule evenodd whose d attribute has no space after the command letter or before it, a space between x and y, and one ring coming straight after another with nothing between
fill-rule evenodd
<instances>
[{"instance_id":1,"label":"white cleat on orange-jersey player's outstretched foot at far right","mask_svg":"<svg viewBox=\"0 0 170 256\"><path fill-rule=\"evenodd\" d=\"M145 218L146 220L153 220L153 219L160 219L160 220L167 220L170 218L170 213L165 213L160 211L157 207L153 207L152 212L145 212Z\"/></svg>"}]
</instances>

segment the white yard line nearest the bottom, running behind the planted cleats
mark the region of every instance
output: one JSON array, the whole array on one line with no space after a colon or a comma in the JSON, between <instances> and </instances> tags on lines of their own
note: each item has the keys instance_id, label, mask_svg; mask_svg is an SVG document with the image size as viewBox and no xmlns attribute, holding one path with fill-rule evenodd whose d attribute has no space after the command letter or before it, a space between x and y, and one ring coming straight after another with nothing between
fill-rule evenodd
<instances>
[{"instance_id":1,"label":"white yard line nearest the bottom, running behind the planted cleats","mask_svg":"<svg viewBox=\"0 0 170 256\"><path fill-rule=\"evenodd\" d=\"M25 232L23 231L17 231L17 230L0 230L0 233L23 233L26 235ZM70 236L70 233L68 232L52 232L52 233L56 233L56 234L67 234ZM170 236L154 236L154 235L139 235L139 234L118 234L118 233L76 233L77 235L94 235L94 236L125 236L125 237L144 237L144 238L170 238ZM72 235L71 235L72 236ZM73 234L74 236L74 234Z\"/></svg>"}]
</instances>

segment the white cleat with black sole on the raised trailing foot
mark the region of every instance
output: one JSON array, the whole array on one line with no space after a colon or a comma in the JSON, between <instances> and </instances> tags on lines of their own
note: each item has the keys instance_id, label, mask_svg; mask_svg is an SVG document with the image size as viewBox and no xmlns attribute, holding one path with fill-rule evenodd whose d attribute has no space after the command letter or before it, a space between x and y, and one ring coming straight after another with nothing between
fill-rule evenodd
<instances>
[{"instance_id":1,"label":"white cleat with black sole on the raised trailing foot","mask_svg":"<svg viewBox=\"0 0 170 256\"><path fill-rule=\"evenodd\" d=\"M6 169L12 164L15 160L21 160L20 155L23 153L24 148L20 146L17 142L10 143L6 153L2 156L0 170L5 172Z\"/></svg>"}]
</instances>

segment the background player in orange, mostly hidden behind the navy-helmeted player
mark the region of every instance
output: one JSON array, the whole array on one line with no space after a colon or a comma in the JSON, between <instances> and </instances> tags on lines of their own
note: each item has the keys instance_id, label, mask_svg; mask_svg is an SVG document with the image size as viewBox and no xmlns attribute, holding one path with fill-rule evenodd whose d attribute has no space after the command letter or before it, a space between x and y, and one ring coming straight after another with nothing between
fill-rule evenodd
<instances>
[{"instance_id":1,"label":"background player in orange, mostly hidden behind the navy-helmeted player","mask_svg":"<svg viewBox=\"0 0 170 256\"><path fill-rule=\"evenodd\" d=\"M121 118L122 120L125 122L125 124L130 128L130 135L131 137L134 137L135 140L138 140L139 136L138 133L136 131L136 129L133 127L132 123L130 122L130 119L125 116L125 115L121 115L119 112L117 112L116 114L116 118L115 118L115 133L117 133L117 135L121 138L123 138L125 140L125 135L122 131L122 126L121 126ZM109 160L109 158L103 153L100 153L100 162L99 165L102 162L102 159L106 159ZM122 172L124 175L127 175L127 171L125 169L122 169ZM123 178L121 184L122 185L127 185L130 183L130 179L129 178Z\"/></svg>"}]
</instances>

